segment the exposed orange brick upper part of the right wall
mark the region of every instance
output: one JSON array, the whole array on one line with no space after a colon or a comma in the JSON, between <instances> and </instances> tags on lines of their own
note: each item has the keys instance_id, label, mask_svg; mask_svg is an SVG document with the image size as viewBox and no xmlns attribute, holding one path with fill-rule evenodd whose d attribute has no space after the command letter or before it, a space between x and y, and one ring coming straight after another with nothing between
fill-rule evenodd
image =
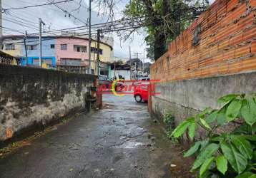
<instances>
[{"instance_id":1,"label":"exposed orange brick upper part of the right wall","mask_svg":"<svg viewBox=\"0 0 256 178\"><path fill-rule=\"evenodd\" d=\"M200 24L200 42L192 46ZM150 69L161 81L256 70L256 0L217 0L169 44Z\"/></svg>"}]
</instances>

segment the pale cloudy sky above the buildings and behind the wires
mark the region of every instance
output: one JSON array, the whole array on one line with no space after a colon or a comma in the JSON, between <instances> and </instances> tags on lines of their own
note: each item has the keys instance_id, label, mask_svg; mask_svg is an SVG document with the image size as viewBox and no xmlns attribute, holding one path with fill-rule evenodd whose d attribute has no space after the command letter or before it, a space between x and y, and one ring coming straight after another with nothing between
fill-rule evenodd
<instances>
[{"instance_id":1,"label":"pale cloudy sky above the buildings and behind the wires","mask_svg":"<svg viewBox=\"0 0 256 178\"><path fill-rule=\"evenodd\" d=\"M24 33L24 31L28 31L28 33L38 32L39 18L41 18L44 23L46 23L46 25L44 26L46 31L49 29L56 30L61 28L84 26L83 22L86 22L88 18L87 7L89 0L82 0L81 6L79 6L79 1L80 0L74 0L67 3L58 4L61 9L68 11L79 20L74 19L74 17L72 16L69 17L68 13L64 13L64 11L61 11L61 9L58 9L54 5L5 11L5 14L3 16L4 34L21 34ZM124 6L125 4L127 4L128 1L129 0L118 0L116 8L114 9L116 19L122 18L122 10L124 9ZM15 7L31 6L45 3L49 3L49 1L2 0L2 7L4 9L10 9ZM92 24L107 21L107 15L104 14L103 11L99 11L94 2L92 2L92 10ZM16 31L14 31L14 29ZM131 46L132 55L134 53L141 53L139 57L143 58L144 48L146 48L146 45L144 43L145 35L146 34L144 33L144 31L141 30L139 33L135 33L134 36L132 36L133 38L131 40L127 40L124 42L120 41L119 37L117 37L117 34L109 34L108 36L112 36L114 38L114 56L129 58L129 46Z\"/></svg>"}]
</instances>

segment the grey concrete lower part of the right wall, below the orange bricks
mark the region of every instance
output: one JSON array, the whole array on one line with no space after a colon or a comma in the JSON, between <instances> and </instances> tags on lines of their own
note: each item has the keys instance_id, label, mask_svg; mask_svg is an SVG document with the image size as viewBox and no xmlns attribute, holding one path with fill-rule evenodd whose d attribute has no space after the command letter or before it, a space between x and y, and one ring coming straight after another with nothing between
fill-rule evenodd
<instances>
[{"instance_id":1,"label":"grey concrete lower part of the right wall, below the orange bricks","mask_svg":"<svg viewBox=\"0 0 256 178\"><path fill-rule=\"evenodd\" d=\"M161 94L152 95L152 114L162 118L170 110L177 125L206 107L219 108L217 98L222 95L255 92L256 72L156 83L155 90Z\"/></svg>"}]
</instances>

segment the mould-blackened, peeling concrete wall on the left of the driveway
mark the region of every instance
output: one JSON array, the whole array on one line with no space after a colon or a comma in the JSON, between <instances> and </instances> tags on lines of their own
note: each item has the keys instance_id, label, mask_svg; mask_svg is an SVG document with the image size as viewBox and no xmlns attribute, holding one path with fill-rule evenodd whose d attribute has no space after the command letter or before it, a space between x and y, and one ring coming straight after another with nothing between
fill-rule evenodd
<instances>
[{"instance_id":1,"label":"mould-blackened, peeling concrete wall on the left of the driveway","mask_svg":"<svg viewBox=\"0 0 256 178\"><path fill-rule=\"evenodd\" d=\"M0 65L0 141L83 110L95 80L94 75Z\"/></svg>"}]
</instances>

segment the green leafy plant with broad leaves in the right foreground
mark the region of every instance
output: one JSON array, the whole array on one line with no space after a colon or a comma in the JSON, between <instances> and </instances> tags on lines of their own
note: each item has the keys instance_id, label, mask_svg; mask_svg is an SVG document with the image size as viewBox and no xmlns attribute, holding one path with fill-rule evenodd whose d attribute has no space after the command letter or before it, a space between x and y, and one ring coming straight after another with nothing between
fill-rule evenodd
<instances>
[{"instance_id":1,"label":"green leafy plant with broad leaves in the right foreground","mask_svg":"<svg viewBox=\"0 0 256 178\"><path fill-rule=\"evenodd\" d=\"M194 117L180 123L172 137L181 137L188 132L194 140L195 133L202 128L205 140L195 144L184 153L184 157L197 155L192 171L199 177L256 177L256 94L225 95L217 100L222 103L219 110L206 108ZM223 125L234 126L230 132L220 131Z\"/></svg>"}]
</instances>

